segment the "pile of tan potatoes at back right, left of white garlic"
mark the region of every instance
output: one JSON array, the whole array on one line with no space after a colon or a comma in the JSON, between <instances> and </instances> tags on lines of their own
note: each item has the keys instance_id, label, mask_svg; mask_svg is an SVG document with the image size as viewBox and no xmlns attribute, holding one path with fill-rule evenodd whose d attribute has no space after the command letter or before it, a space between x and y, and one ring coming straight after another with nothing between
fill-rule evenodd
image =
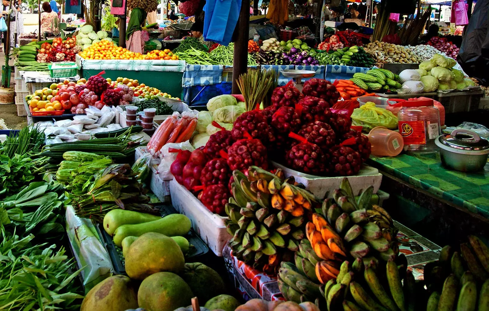
<instances>
[{"instance_id":1,"label":"pile of tan potatoes at back right, left of white garlic","mask_svg":"<svg viewBox=\"0 0 489 311\"><path fill-rule=\"evenodd\" d=\"M377 59L378 67L387 62L419 63L416 53L407 46L374 41L366 45L365 51Z\"/></svg>"}]
</instances>

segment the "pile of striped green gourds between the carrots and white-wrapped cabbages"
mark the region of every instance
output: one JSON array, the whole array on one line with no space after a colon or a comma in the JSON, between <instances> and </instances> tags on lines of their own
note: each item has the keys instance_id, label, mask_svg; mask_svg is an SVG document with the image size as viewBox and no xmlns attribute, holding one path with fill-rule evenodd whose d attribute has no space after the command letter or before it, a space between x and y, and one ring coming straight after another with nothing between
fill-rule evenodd
<instances>
[{"instance_id":1,"label":"pile of striped green gourds between the carrots and white-wrapped cabbages","mask_svg":"<svg viewBox=\"0 0 489 311\"><path fill-rule=\"evenodd\" d=\"M370 69L366 73L357 72L350 81L361 89L377 93L399 89L402 87L400 82L404 82L400 76L386 69Z\"/></svg>"}]
</instances>

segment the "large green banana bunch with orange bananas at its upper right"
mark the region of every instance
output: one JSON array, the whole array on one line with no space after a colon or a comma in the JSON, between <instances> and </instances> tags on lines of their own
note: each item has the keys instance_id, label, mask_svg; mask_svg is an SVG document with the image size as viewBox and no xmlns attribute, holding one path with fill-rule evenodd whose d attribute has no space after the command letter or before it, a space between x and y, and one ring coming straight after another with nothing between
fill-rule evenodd
<instances>
[{"instance_id":1,"label":"large green banana bunch with orange bananas at its upper right","mask_svg":"<svg viewBox=\"0 0 489 311\"><path fill-rule=\"evenodd\" d=\"M225 206L229 216L226 226L233 235L232 253L239 260L276 273L281 261L293 259L305 237L305 213L318 204L310 192L293 184L280 169L272 174L250 166L247 177L238 170L233 172L233 196ZM274 199L277 195L284 201L280 206Z\"/></svg>"}]
</instances>

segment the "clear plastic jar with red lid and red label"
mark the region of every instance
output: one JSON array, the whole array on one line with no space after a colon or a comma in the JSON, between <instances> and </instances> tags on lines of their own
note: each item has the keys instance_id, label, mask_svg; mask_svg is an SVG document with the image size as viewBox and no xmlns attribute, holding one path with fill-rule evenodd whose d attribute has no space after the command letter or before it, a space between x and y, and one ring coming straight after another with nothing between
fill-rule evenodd
<instances>
[{"instance_id":1,"label":"clear plastic jar with red lid and red label","mask_svg":"<svg viewBox=\"0 0 489 311\"><path fill-rule=\"evenodd\" d=\"M435 140L441 135L440 111L433 100L400 102L399 132L404 141L404 151L432 153L438 151Z\"/></svg>"}]
</instances>

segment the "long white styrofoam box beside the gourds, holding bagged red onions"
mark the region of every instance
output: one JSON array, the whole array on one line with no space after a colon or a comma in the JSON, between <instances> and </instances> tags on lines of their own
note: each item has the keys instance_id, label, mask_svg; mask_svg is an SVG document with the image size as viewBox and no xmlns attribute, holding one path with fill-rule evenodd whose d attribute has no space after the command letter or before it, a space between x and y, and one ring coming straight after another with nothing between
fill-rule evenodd
<instances>
[{"instance_id":1,"label":"long white styrofoam box beside the gourds, holding bagged red onions","mask_svg":"<svg viewBox=\"0 0 489 311\"><path fill-rule=\"evenodd\" d=\"M212 213L192 192L170 181L172 205L180 214L186 215L192 222L192 228L217 256L222 256L222 248L232 237L226 231L224 219L227 217Z\"/></svg>"}]
</instances>

